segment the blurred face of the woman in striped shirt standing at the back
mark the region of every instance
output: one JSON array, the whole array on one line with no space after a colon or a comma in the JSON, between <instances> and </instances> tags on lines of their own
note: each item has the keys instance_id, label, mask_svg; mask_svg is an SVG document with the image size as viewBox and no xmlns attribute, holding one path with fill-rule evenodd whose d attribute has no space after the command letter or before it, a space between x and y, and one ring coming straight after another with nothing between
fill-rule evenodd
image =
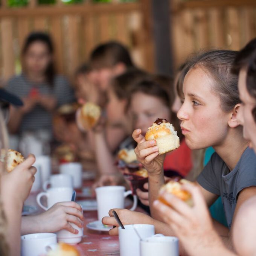
<instances>
[{"instance_id":1,"label":"blurred face of the woman in striped shirt standing at the back","mask_svg":"<svg viewBox=\"0 0 256 256\"><path fill-rule=\"evenodd\" d=\"M35 74L43 74L51 61L52 56L49 53L47 45L36 41L27 48L24 55L26 70Z\"/></svg>"}]
</instances>

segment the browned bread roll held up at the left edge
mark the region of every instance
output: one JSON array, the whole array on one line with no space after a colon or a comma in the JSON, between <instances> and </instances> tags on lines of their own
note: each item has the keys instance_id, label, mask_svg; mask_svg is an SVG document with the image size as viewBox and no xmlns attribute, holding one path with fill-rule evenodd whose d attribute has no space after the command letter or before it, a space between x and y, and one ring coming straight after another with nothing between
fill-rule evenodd
<instances>
[{"instance_id":1,"label":"browned bread roll held up at the left edge","mask_svg":"<svg viewBox=\"0 0 256 256\"><path fill-rule=\"evenodd\" d=\"M16 150L1 149L0 161L6 163L6 170L11 172L17 165L24 161L24 157Z\"/></svg>"}]
</instances>

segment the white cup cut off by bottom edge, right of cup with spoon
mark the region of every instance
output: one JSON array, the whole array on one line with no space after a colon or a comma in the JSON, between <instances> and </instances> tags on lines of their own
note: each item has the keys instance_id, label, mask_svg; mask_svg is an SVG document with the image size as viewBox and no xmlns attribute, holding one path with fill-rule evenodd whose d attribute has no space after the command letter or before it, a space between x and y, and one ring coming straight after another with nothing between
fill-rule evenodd
<instances>
[{"instance_id":1,"label":"white cup cut off by bottom edge, right of cup with spoon","mask_svg":"<svg viewBox=\"0 0 256 256\"><path fill-rule=\"evenodd\" d=\"M179 256L178 238L174 236L152 236L140 241L140 256Z\"/></svg>"}]
</instances>

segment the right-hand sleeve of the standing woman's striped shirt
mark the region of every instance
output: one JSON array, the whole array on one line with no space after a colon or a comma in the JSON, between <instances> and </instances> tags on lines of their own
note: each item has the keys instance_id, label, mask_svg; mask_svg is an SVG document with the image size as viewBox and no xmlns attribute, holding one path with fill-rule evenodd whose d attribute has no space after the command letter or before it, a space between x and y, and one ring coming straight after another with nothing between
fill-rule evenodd
<instances>
[{"instance_id":1,"label":"right-hand sleeve of the standing woman's striped shirt","mask_svg":"<svg viewBox=\"0 0 256 256\"><path fill-rule=\"evenodd\" d=\"M55 96L58 106L75 101L74 91L64 76L57 76L55 79Z\"/></svg>"}]
</instances>

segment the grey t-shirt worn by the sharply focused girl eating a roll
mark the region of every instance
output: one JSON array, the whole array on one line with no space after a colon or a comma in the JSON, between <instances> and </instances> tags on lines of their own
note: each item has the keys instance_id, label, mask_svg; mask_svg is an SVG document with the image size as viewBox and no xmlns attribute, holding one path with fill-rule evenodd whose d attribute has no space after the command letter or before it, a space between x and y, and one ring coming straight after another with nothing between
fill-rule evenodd
<instances>
[{"instance_id":1,"label":"grey t-shirt worn by the sharply focused girl eating a roll","mask_svg":"<svg viewBox=\"0 0 256 256\"><path fill-rule=\"evenodd\" d=\"M230 229L239 192L245 187L256 186L256 155L252 149L246 148L230 171L215 152L197 181L204 189L221 196Z\"/></svg>"}]
</instances>

